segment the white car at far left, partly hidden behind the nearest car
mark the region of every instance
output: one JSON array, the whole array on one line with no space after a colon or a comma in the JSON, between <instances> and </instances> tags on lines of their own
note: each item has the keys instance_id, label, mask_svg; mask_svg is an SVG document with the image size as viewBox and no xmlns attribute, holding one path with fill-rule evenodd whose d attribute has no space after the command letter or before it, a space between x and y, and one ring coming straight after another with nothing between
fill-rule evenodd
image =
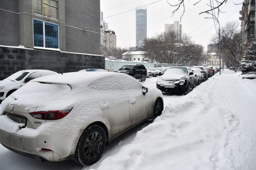
<instances>
[{"instance_id":1,"label":"white car at far left, partly hidden behind the nearest car","mask_svg":"<svg viewBox=\"0 0 256 170\"><path fill-rule=\"evenodd\" d=\"M0 101L3 101L13 92L15 92L20 87L24 86L29 81L39 78L46 75L58 74L49 70L21 70L13 75L10 75L8 78L0 81Z\"/></svg>"}]
</instances>

